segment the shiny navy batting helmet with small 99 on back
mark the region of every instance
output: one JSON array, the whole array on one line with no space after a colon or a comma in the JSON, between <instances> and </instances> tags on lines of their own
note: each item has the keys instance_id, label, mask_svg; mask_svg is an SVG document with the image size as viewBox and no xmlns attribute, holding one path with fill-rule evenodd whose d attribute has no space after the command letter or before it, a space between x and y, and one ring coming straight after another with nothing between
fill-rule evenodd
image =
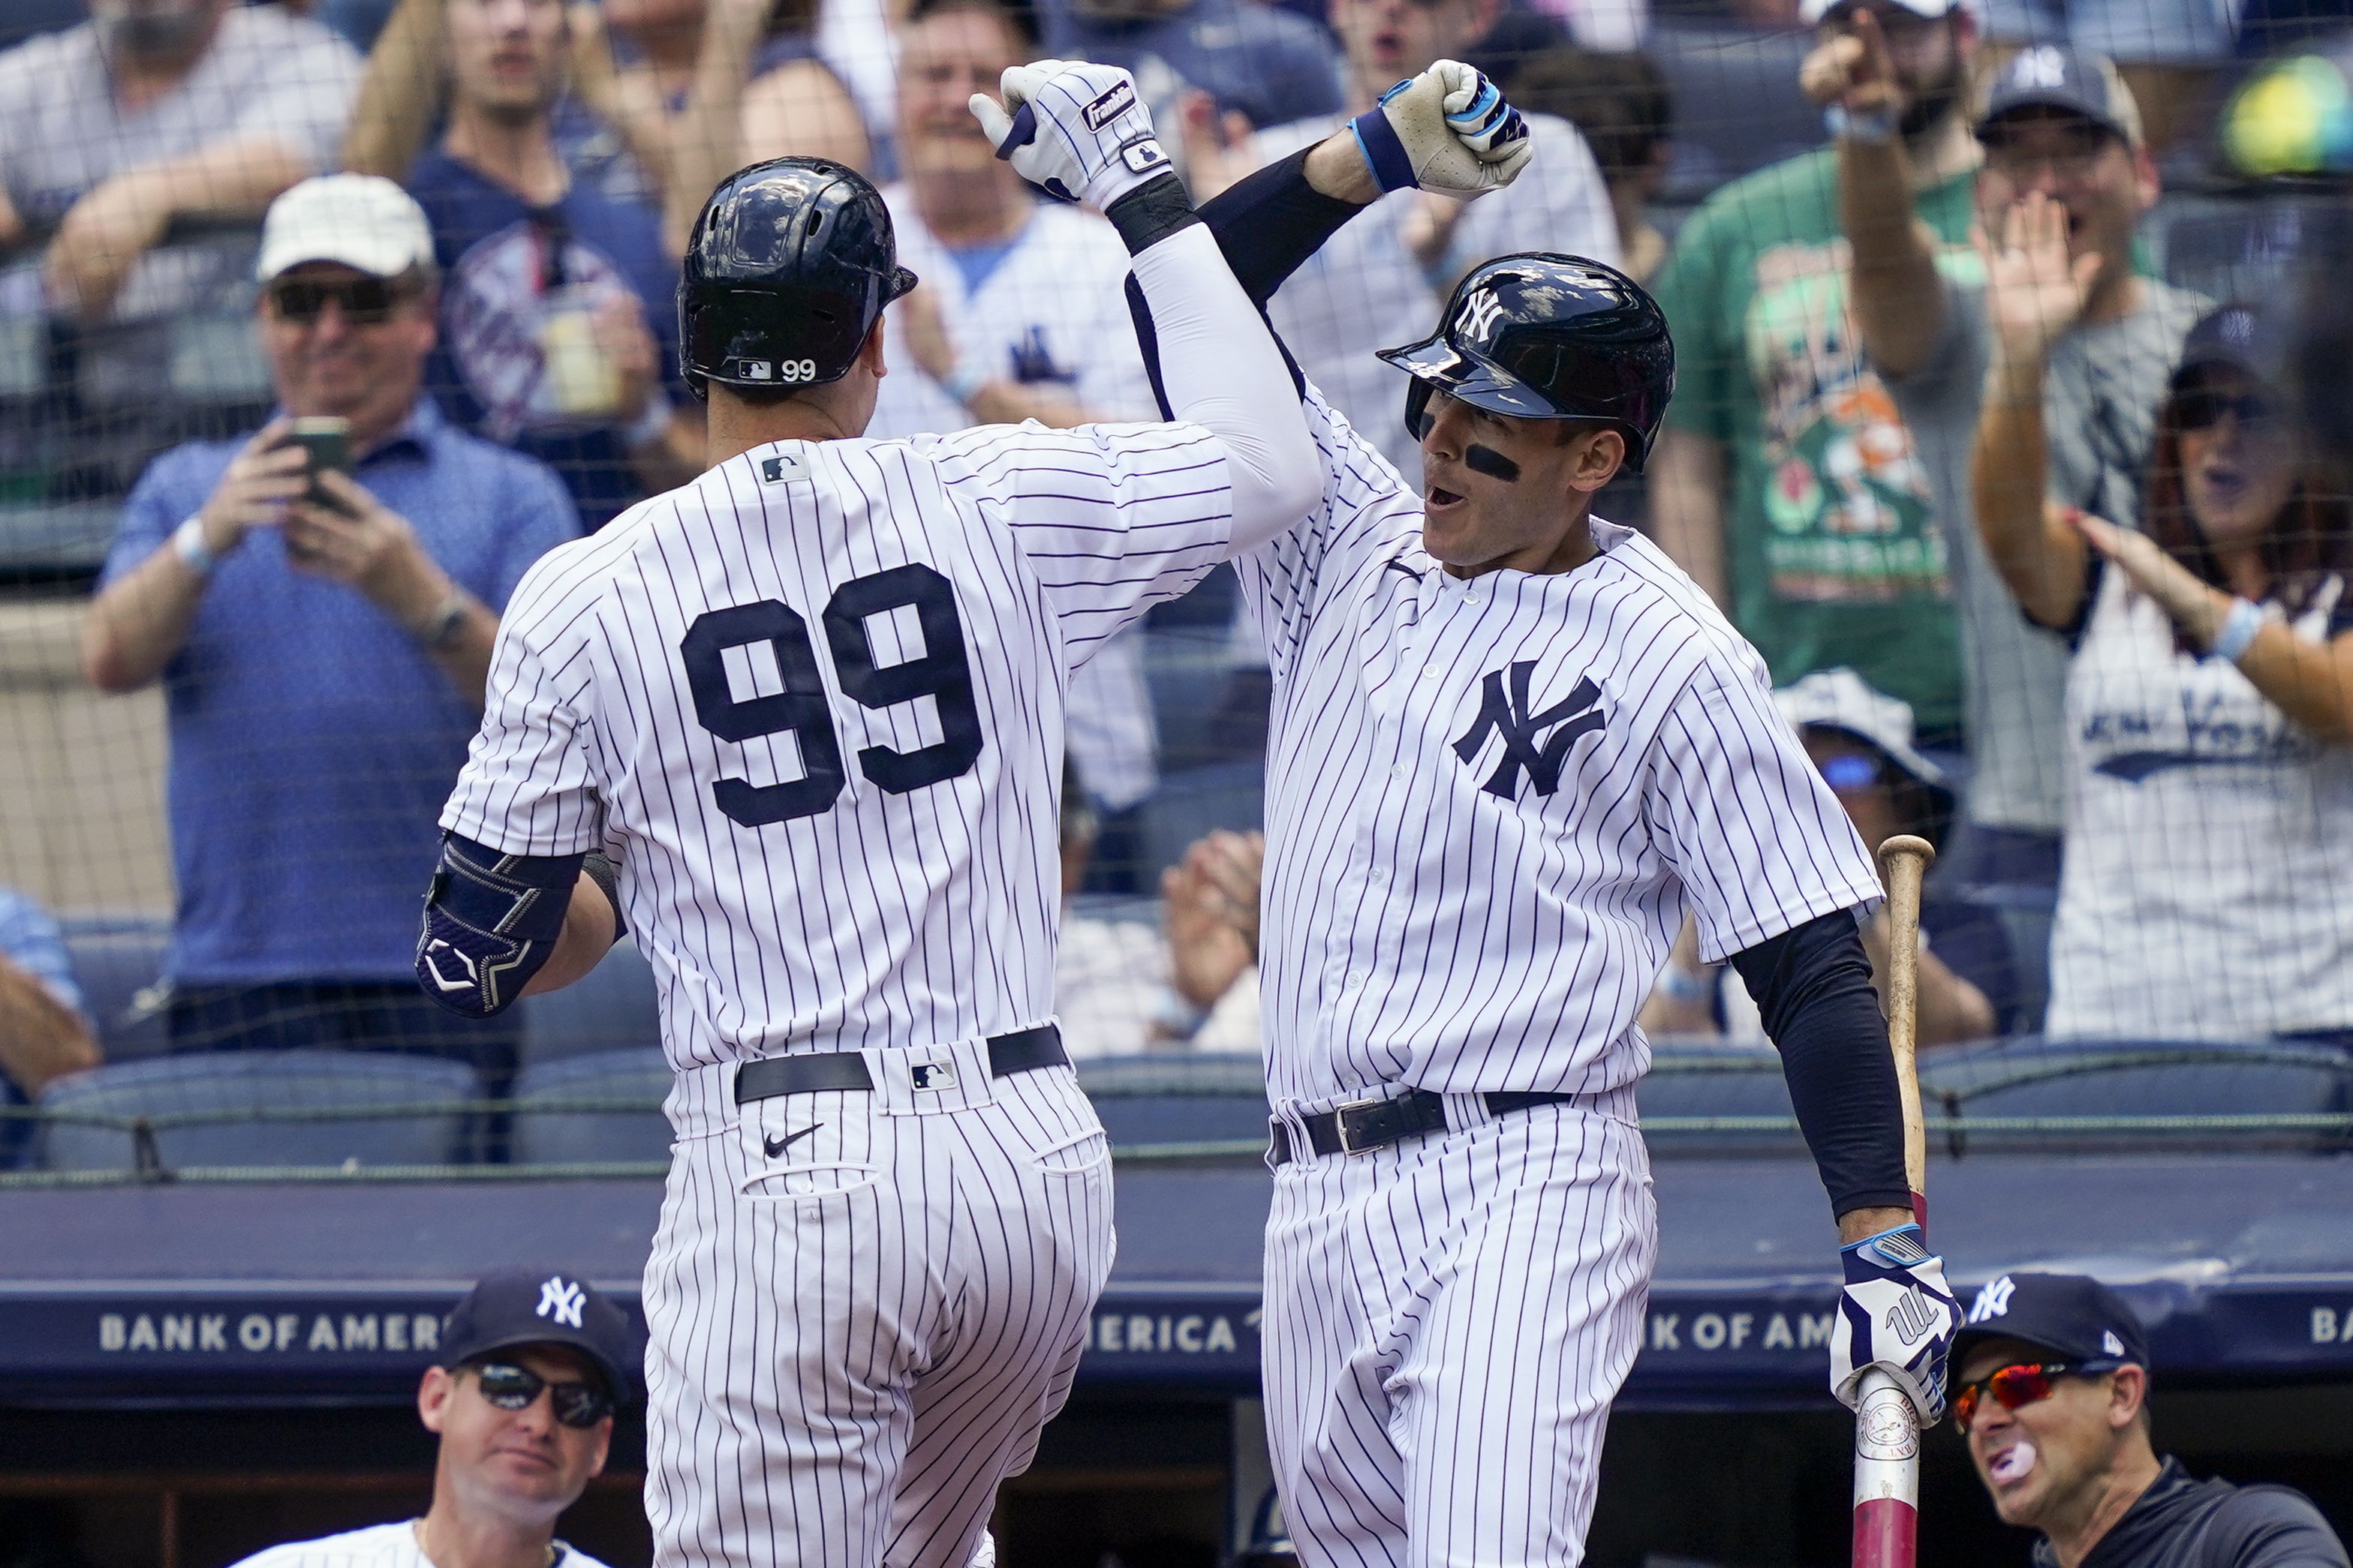
<instances>
[{"instance_id":1,"label":"shiny navy batting helmet with small 99 on back","mask_svg":"<svg viewBox=\"0 0 2353 1568\"><path fill-rule=\"evenodd\" d=\"M840 381L882 306L915 287L889 207L856 169L772 158L704 202L678 275L678 362L706 381L802 388Z\"/></svg>"}]
</instances>

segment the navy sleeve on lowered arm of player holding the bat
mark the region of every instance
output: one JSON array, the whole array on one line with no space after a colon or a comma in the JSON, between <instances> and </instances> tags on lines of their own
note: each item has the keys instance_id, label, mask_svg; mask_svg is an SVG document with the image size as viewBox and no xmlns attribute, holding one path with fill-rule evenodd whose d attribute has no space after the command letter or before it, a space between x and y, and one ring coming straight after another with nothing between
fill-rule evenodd
<instances>
[{"instance_id":1,"label":"navy sleeve on lowered arm of player holding the bat","mask_svg":"<svg viewBox=\"0 0 2353 1568\"><path fill-rule=\"evenodd\" d=\"M1854 910L1734 952L1732 966L1781 1051L1788 1100L1831 1213L1911 1208L1897 1060Z\"/></svg>"}]
</instances>

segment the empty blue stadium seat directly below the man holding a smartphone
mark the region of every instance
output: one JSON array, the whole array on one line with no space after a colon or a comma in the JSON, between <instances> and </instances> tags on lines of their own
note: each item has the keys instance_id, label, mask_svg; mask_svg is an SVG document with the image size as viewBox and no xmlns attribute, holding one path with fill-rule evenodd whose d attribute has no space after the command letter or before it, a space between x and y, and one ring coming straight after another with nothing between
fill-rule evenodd
<instances>
[{"instance_id":1,"label":"empty blue stadium seat directly below the man holding a smartphone","mask_svg":"<svg viewBox=\"0 0 2353 1568\"><path fill-rule=\"evenodd\" d=\"M153 1117L162 1171L191 1166L442 1166L461 1164L480 1098L473 1067L372 1051L221 1051L162 1056L56 1079L40 1107L80 1117ZM264 1119L254 1112L433 1107L353 1119ZM219 1114L172 1126L179 1114ZM47 1121L38 1164L49 1171L132 1171L127 1128Z\"/></svg>"}]
</instances>

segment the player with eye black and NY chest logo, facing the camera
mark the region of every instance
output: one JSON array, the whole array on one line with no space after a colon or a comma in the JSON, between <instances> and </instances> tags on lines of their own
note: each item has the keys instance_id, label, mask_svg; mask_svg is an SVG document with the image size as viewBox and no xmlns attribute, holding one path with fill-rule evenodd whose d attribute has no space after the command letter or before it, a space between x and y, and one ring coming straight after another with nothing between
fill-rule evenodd
<instances>
[{"instance_id":1,"label":"player with eye black and NY chest logo, facing the camera","mask_svg":"<svg viewBox=\"0 0 2353 1568\"><path fill-rule=\"evenodd\" d=\"M1447 108L1508 122L1473 75ZM1202 216L1264 301L1407 174L1327 143ZM1654 1258L1635 1011L1685 912L1765 999L1847 1244L1833 1387L1880 1363L1934 1418L1958 1309L1911 1225L1871 858L1762 658L1591 515L1673 393L1659 308L1504 256L1384 357L1424 491L1308 388L1322 503L1238 559L1275 675L1275 1479L1308 1568L1577 1563Z\"/></svg>"}]
</instances>

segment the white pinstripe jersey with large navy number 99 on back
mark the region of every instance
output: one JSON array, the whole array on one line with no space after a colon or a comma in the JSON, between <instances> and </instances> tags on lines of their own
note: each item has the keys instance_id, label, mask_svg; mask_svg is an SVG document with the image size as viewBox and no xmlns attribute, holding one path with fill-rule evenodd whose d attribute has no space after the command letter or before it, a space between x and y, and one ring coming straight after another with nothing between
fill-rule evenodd
<instances>
[{"instance_id":1,"label":"white pinstripe jersey with large navy number 99 on back","mask_svg":"<svg viewBox=\"0 0 2353 1568\"><path fill-rule=\"evenodd\" d=\"M1045 1023L1071 670L1231 527L1200 425L758 447L532 567L442 825L616 851L680 1070Z\"/></svg>"}]
</instances>

